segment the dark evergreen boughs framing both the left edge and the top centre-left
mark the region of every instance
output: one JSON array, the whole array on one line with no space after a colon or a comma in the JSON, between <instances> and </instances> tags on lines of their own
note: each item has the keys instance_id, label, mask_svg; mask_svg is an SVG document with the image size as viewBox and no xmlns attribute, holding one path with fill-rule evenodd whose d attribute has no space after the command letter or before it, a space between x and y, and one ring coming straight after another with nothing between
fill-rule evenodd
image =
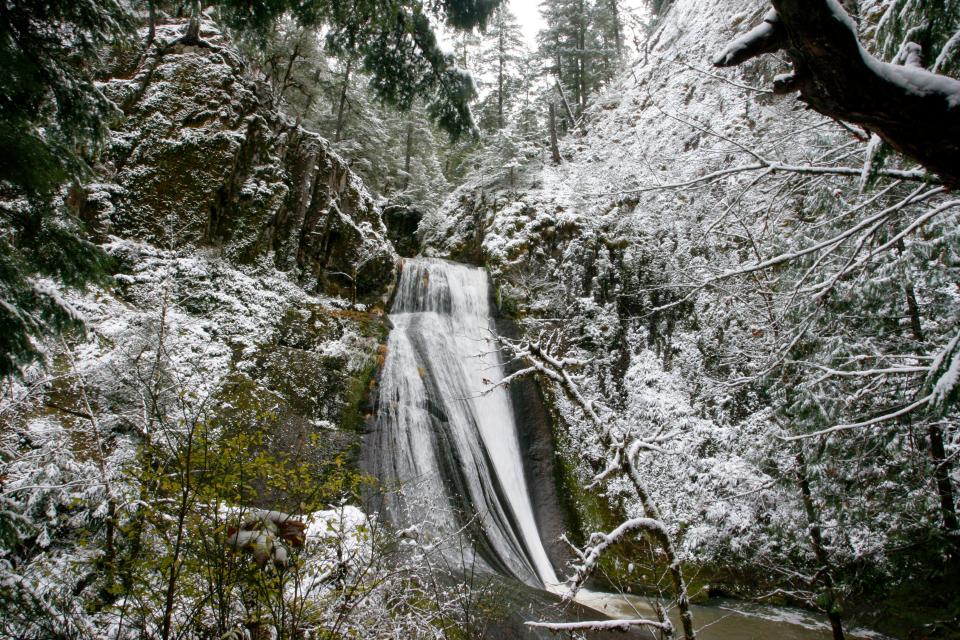
<instances>
[{"instance_id":1,"label":"dark evergreen boughs framing both the left edge and the top centre-left","mask_svg":"<svg viewBox=\"0 0 960 640\"><path fill-rule=\"evenodd\" d=\"M185 13L184 39L196 39L201 14L214 10L238 36L264 42L278 21L325 34L329 52L359 58L383 101L408 110L417 100L454 139L472 134L475 85L441 50L437 21L452 28L482 26L499 0L13 0L0 11L0 376L37 355L35 339L55 335L76 317L36 278L72 285L102 280L109 261L86 240L84 225L61 189L85 179L100 159L117 105L97 87L105 51L151 49L158 16ZM138 29L146 28L146 40ZM203 44L202 42L200 44ZM121 57L122 59L122 57ZM55 206L54 201L58 204Z\"/></svg>"}]
</instances>

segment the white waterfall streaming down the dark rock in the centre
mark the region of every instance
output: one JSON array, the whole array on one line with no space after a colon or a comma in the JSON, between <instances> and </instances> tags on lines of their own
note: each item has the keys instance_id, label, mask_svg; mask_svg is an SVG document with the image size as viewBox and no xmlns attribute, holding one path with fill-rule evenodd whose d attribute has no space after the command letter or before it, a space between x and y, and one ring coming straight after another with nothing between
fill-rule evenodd
<instances>
[{"instance_id":1,"label":"white waterfall streaming down the dark rock in the centre","mask_svg":"<svg viewBox=\"0 0 960 640\"><path fill-rule=\"evenodd\" d=\"M464 562L556 588L540 538L493 334L486 273L404 262L390 313L372 441L374 472L398 526L470 532Z\"/></svg>"}]
</instances>

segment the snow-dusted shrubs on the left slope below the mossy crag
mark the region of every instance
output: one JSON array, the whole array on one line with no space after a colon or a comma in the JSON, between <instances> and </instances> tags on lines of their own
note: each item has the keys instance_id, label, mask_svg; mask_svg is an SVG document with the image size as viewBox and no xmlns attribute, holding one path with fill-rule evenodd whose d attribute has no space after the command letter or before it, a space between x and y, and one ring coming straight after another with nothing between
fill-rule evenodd
<instances>
[{"instance_id":1,"label":"snow-dusted shrubs on the left slope below the mossy crag","mask_svg":"<svg viewBox=\"0 0 960 640\"><path fill-rule=\"evenodd\" d=\"M118 562L143 517L142 501L159 488L141 467L157 451L176 459L191 429L202 423L228 433L240 424L231 416L274 425L273 439L306 420L315 435L304 435L328 439L323 446L335 450L336 436L322 434L356 410L346 404L343 380L363 378L375 352L376 332L351 319L363 314L311 296L269 261L238 269L202 252L119 238L104 248L125 267L118 288L64 292L86 335L53 345L52 367L11 382L0 404L9 425L0 445L0 618L4 633L16 637L53 637L51 625L61 623L83 637L107 633L121 605L116 596L96 596L110 586L104 563ZM320 373L302 382L289 374L288 388L278 388L284 379L264 350L295 346L303 331L313 344L301 345L308 351L300 364ZM322 377L323 367L335 375ZM263 417L267 411L279 417ZM249 473L256 474L252 464ZM140 535L144 551L155 544L151 553L164 557L162 538ZM100 614L83 606L91 598Z\"/></svg>"}]
</instances>

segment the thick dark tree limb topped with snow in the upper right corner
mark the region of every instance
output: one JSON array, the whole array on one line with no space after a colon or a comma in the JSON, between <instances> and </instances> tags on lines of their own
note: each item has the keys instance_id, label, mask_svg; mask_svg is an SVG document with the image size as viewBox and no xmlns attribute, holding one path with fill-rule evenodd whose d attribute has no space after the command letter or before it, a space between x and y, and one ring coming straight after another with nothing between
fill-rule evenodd
<instances>
[{"instance_id":1,"label":"thick dark tree limb topped with snow in the upper right corner","mask_svg":"<svg viewBox=\"0 0 960 640\"><path fill-rule=\"evenodd\" d=\"M857 40L837 0L771 0L774 11L714 58L719 67L786 51L794 77L785 88L816 111L858 124L960 185L960 81L913 65L881 62ZM917 47L907 52L918 59Z\"/></svg>"}]
</instances>

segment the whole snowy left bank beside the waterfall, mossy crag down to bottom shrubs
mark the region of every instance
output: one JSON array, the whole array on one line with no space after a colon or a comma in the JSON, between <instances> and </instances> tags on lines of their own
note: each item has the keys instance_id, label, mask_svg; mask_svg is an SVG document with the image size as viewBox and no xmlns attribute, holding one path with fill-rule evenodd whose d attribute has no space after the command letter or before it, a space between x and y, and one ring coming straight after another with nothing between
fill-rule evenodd
<instances>
[{"instance_id":1,"label":"whole snowy left bank beside the waterfall, mossy crag down to bottom shrubs","mask_svg":"<svg viewBox=\"0 0 960 640\"><path fill-rule=\"evenodd\" d=\"M101 85L123 115L66 203L111 277L38 277L83 331L3 381L0 635L416 637L429 614L388 600L420 565L397 571L356 507L338 508L349 526L314 517L359 499L349 462L395 259L379 208L258 97L215 25L198 47L175 43L183 26ZM316 522L261 567L229 543L252 508Z\"/></svg>"}]
</instances>

